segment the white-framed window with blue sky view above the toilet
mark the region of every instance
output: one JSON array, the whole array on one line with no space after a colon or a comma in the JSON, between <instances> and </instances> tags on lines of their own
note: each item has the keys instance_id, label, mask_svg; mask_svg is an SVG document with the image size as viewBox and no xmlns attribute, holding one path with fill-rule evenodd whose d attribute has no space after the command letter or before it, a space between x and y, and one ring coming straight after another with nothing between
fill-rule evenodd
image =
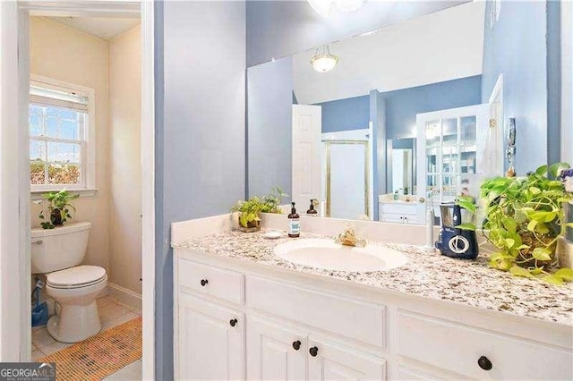
<instances>
[{"instance_id":1,"label":"white-framed window with blue sky view above the toilet","mask_svg":"<svg viewBox=\"0 0 573 381\"><path fill-rule=\"evenodd\" d=\"M93 189L93 90L37 76L31 79L31 190Z\"/></svg>"}]
</instances>

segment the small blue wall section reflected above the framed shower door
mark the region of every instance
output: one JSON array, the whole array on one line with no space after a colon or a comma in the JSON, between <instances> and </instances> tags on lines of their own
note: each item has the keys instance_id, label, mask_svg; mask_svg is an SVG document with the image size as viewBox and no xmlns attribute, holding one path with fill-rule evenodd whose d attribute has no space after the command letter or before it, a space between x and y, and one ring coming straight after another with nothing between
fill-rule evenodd
<instances>
[{"instance_id":1,"label":"small blue wall section reflected above the framed shower door","mask_svg":"<svg viewBox=\"0 0 573 381\"><path fill-rule=\"evenodd\" d=\"M370 122L370 96L348 97L317 103L322 106L322 132L367 129Z\"/></svg>"}]
</instances>

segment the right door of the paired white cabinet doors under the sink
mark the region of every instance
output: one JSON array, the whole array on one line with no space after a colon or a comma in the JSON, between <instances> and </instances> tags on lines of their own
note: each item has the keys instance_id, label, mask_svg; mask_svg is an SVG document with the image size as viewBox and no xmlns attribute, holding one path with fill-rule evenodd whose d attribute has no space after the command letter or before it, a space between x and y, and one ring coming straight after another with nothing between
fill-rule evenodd
<instances>
[{"instance_id":1,"label":"right door of the paired white cabinet doors under the sink","mask_svg":"<svg viewBox=\"0 0 573 381\"><path fill-rule=\"evenodd\" d=\"M309 339L310 380L384 380L386 360L347 345Z\"/></svg>"}]
</instances>

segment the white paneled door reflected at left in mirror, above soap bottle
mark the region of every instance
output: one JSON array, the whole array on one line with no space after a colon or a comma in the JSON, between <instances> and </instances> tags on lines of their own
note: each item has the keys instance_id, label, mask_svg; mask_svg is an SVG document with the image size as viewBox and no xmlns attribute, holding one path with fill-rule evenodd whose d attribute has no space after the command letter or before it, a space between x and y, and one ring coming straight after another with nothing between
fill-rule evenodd
<instances>
[{"instance_id":1,"label":"white paneled door reflected at left in mirror, above soap bottle","mask_svg":"<svg viewBox=\"0 0 573 381\"><path fill-rule=\"evenodd\" d=\"M293 105L292 199L303 214L321 199L321 106Z\"/></svg>"}]
</instances>

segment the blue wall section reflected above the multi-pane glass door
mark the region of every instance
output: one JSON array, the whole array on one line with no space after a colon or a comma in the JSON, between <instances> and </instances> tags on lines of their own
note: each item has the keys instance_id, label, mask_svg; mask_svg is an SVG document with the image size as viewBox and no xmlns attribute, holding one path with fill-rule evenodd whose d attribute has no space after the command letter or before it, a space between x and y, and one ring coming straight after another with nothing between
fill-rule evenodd
<instances>
[{"instance_id":1,"label":"blue wall section reflected above the multi-pane glass door","mask_svg":"<svg viewBox=\"0 0 573 381\"><path fill-rule=\"evenodd\" d=\"M415 114L482 103L482 77L475 75L383 92L388 139L415 138Z\"/></svg>"}]
</instances>

